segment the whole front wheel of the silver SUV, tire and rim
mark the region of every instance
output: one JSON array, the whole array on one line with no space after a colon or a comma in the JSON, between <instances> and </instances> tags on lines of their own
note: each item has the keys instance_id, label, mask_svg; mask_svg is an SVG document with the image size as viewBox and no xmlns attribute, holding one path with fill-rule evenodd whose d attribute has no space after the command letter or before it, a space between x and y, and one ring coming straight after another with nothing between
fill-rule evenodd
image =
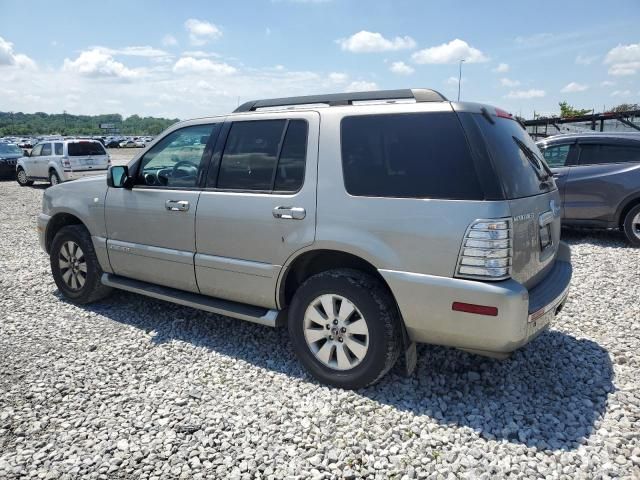
<instances>
[{"instance_id":1,"label":"whole front wheel of the silver SUV, tire and rim","mask_svg":"<svg viewBox=\"0 0 640 480\"><path fill-rule=\"evenodd\" d=\"M77 249L73 250L73 245L79 247L80 254ZM111 293L112 289L100 281L102 268L91 235L84 226L62 227L51 243L49 259L58 289L73 303L95 302ZM69 264L74 264L74 268L67 268Z\"/></svg>"}]
</instances>

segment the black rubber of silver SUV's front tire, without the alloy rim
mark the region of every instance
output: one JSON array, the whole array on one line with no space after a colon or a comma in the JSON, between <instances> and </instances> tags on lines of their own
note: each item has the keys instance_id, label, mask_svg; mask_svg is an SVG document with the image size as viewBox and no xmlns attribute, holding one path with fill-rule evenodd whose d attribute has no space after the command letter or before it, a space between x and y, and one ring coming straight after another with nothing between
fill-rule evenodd
<instances>
[{"instance_id":1,"label":"black rubber of silver SUV's front tire, without the alloy rim","mask_svg":"<svg viewBox=\"0 0 640 480\"><path fill-rule=\"evenodd\" d=\"M72 288L63 278L63 273L66 273L66 271L62 271L60 260L63 259L62 249L67 242L74 242L80 247L84 254L86 278L80 288ZM95 302L112 292L112 288L103 285L100 281L103 273L102 268L100 268L100 264L98 263L93 242L91 241L91 235L84 226L68 225L62 227L51 243L49 259L51 263L51 273L53 274L53 279L58 289L73 303L82 305Z\"/></svg>"}]
</instances>

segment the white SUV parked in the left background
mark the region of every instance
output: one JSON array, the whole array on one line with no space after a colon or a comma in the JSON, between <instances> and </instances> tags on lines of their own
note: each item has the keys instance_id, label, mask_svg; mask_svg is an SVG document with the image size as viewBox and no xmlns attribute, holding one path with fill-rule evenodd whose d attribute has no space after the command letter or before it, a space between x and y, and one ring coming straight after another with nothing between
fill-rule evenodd
<instances>
[{"instance_id":1,"label":"white SUV parked in the left background","mask_svg":"<svg viewBox=\"0 0 640 480\"><path fill-rule=\"evenodd\" d=\"M35 180L56 185L67 180L105 173L111 164L109 154L95 140L46 140L37 143L31 154L16 165L21 186Z\"/></svg>"}]
</instances>

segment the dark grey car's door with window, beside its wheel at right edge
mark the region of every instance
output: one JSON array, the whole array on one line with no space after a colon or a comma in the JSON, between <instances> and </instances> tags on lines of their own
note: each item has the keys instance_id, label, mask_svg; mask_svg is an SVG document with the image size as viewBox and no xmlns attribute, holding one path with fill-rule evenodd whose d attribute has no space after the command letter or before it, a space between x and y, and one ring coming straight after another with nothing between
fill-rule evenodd
<instances>
[{"instance_id":1,"label":"dark grey car's door with window, beside its wheel at right edge","mask_svg":"<svg viewBox=\"0 0 640 480\"><path fill-rule=\"evenodd\" d=\"M607 226L628 192L626 172L640 163L640 142L585 138L578 141L579 158L566 184L565 217Z\"/></svg>"}]
</instances>

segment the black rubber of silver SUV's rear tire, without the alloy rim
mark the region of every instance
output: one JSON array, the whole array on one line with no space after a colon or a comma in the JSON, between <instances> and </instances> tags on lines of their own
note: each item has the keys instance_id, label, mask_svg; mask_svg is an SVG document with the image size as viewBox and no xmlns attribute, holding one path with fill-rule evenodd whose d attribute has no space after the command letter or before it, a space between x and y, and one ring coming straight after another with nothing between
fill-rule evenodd
<instances>
[{"instance_id":1,"label":"black rubber of silver SUV's rear tire, without the alloy rim","mask_svg":"<svg viewBox=\"0 0 640 480\"><path fill-rule=\"evenodd\" d=\"M351 369L325 365L305 339L305 312L323 294L345 297L366 319L368 349ZM381 282L357 270L329 270L307 279L293 297L288 326L294 351L307 371L320 382L340 388L357 389L376 383L393 367L401 350L401 320L393 297Z\"/></svg>"}]
</instances>

